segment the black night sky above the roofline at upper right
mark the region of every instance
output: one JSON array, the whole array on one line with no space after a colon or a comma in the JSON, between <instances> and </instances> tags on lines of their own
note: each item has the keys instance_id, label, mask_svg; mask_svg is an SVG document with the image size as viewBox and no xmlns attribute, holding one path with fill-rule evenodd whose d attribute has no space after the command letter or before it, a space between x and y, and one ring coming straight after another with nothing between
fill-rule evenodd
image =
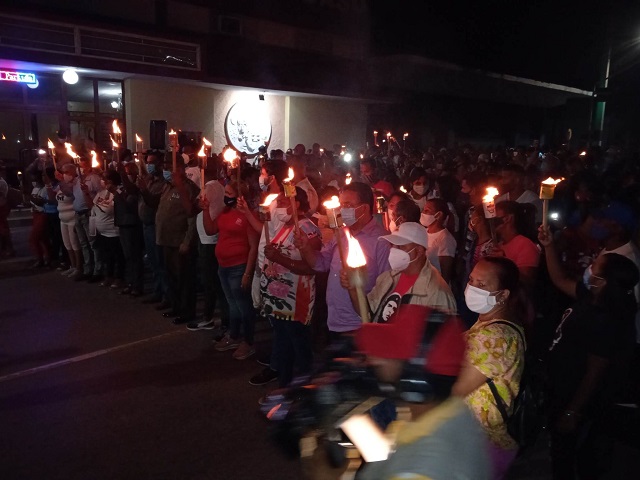
<instances>
[{"instance_id":1,"label":"black night sky above the roofline at upper right","mask_svg":"<svg viewBox=\"0 0 640 480\"><path fill-rule=\"evenodd\" d=\"M609 38L620 44L640 36L640 1L373 0L370 5L376 54L419 54L584 89L598 78ZM633 67L640 51L625 48L618 57L628 54L624 66ZM639 69L628 69L633 70Z\"/></svg>"}]
</instances>

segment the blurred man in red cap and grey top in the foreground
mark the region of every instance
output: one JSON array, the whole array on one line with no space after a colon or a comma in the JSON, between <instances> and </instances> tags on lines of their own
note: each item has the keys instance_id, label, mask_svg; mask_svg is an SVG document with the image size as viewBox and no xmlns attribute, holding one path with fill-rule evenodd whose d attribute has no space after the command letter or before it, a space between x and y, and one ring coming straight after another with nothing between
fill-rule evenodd
<instances>
[{"instance_id":1,"label":"blurred man in red cap and grey top in the foreground","mask_svg":"<svg viewBox=\"0 0 640 480\"><path fill-rule=\"evenodd\" d=\"M491 478L486 437L464 401L451 396L464 358L463 330L458 317L403 305L393 322L356 333L378 379L393 385L411 412L386 430L395 433L395 451L367 463L358 479Z\"/></svg>"}]
</instances>

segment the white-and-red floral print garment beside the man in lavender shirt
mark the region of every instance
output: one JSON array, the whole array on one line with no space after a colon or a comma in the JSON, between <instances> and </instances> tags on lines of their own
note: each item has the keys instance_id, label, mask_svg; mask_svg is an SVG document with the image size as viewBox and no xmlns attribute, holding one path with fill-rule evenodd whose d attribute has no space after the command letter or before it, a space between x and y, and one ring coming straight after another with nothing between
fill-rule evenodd
<instances>
[{"instance_id":1,"label":"white-and-red floral print garment beside the man in lavender shirt","mask_svg":"<svg viewBox=\"0 0 640 480\"><path fill-rule=\"evenodd\" d=\"M320 235L320 230L308 219L299 222L300 231L308 238ZM292 260L302 260L293 244L293 225L283 225L271 240L280 253ZM265 260L260 275L262 314L277 320L297 321L308 325L316 297L314 275L297 275L279 263Z\"/></svg>"}]
</instances>

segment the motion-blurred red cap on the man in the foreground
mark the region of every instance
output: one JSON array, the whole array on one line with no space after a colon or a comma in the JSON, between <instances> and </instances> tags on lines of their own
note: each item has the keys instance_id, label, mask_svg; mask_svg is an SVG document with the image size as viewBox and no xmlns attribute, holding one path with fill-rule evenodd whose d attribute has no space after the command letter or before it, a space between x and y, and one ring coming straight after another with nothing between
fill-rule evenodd
<instances>
[{"instance_id":1,"label":"motion-blurred red cap on the man in the foreground","mask_svg":"<svg viewBox=\"0 0 640 480\"><path fill-rule=\"evenodd\" d=\"M356 345L379 358L410 360L422 344L429 322L439 322L433 338L427 338L425 370L436 375L458 376L464 359L464 326L457 316L434 315L429 307L401 305L388 323L366 323L356 333Z\"/></svg>"}]
</instances>

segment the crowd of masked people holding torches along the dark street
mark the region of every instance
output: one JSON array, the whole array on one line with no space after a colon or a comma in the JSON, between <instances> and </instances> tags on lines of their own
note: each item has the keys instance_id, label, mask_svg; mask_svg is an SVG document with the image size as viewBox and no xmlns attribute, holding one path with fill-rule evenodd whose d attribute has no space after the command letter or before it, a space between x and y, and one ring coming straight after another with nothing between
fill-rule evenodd
<instances>
[{"instance_id":1,"label":"crowd of masked people holding torches along the dark street","mask_svg":"<svg viewBox=\"0 0 640 480\"><path fill-rule=\"evenodd\" d=\"M503 478L516 457L496 396L511 413L525 351L549 374L554 478L596 478L607 468L607 414L640 401L632 159L613 148L539 145L374 146L350 155L316 143L263 148L241 156L240 167L213 155L201 169L198 148L182 146L175 165L170 153L137 160L123 151L106 170L82 155L77 163L59 155L54 168L42 150L28 169L33 267L146 295L174 324L212 331L215 349L238 360L255 355L255 323L268 320L271 354L253 385L286 387L312 372L314 354L332 340L394 324L401 307L457 315L464 355L447 370L454 381L441 397L462 399L484 432L490 473L473 478ZM543 219L537 191L549 176L563 181ZM488 187L499 190L493 219L482 206ZM268 195L275 200L259 207ZM344 224L337 231L324 206L333 197ZM365 304L345 264L347 230L366 258ZM363 328L363 318L373 325ZM394 353L393 336L383 340L361 343L372 365L411 357ZM396 458L406 461L394 474L423 471L409 466L411 455Z\"/></svg>"}]
</instances>

